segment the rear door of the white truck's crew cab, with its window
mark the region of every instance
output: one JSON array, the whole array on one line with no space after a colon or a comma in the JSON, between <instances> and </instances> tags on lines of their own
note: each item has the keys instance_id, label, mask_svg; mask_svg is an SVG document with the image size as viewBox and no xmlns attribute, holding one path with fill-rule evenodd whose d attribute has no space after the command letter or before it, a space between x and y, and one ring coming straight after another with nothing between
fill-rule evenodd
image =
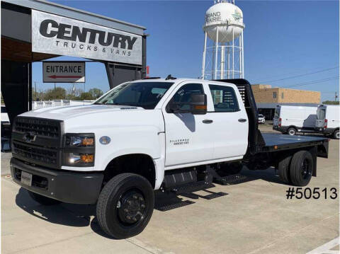
<instances>
[{"instance_id":1,"label":"rear door of the white truck's crew cab, with its window","mask_svg":"<svg viewBox=\"0 0 340 254\"><path fill-rule=\"evenodd\" d=\"M248 147L249 122L242 97L232 84L208 83L210 137L214 141L213 159L242 158Z\"/></svg>"}]
</instances>

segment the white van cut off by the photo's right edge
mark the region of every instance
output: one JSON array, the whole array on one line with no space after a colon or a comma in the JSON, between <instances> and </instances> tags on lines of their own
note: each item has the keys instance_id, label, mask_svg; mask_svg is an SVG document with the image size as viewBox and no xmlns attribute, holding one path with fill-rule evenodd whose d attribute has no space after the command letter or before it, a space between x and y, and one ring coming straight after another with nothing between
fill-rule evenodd
<instances>
[{"instance_id":1,"label":"white van cut off by the photo's right edge","mask_svg":"<svg viewBox=\"0 0 340 254\"><path fill-rule=\"evenodd\" d=\"M315 130L339 139L339 105L319 105Z\"/></svg>"}]
</instances>

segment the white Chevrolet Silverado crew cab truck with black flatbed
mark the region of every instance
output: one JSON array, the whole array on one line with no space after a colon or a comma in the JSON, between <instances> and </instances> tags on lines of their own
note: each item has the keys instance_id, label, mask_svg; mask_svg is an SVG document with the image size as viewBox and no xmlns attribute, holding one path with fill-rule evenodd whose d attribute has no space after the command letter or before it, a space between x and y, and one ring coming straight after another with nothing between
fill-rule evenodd
<instances>
[{"instance_id":1,"label":"white Chevrolet Silverado crew cab truck with black flatbed","mask_svg":"<svg viewBox=\"0 0 340 254\"><path fill-rule=\"evenodd\" d=\"M284 183L317 174L328 139L259 132L244 79L143 79L91 105L41 108L13 122L11 176L40 204L96 204L114 238L145 229L154 191L221 183L275 167Z\"/></svg>"}]
</instances>

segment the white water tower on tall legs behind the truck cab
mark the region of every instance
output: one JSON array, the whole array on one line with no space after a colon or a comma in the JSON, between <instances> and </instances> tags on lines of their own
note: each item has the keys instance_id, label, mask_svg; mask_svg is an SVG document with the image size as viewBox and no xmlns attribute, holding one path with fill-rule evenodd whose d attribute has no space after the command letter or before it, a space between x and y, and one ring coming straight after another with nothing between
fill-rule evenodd
<instances>
[{"instance_id":1,"label":"white water tower on tall legs behind the truck cab","mask_svg":"<svg viewBox=\"0 0 340 254\"><path fill-rule=\"evenodd\" d=\"M208 8L202 79L244 78L243 29L243 13L234 0L216 0Z\"/></svg>"}]
</instances>

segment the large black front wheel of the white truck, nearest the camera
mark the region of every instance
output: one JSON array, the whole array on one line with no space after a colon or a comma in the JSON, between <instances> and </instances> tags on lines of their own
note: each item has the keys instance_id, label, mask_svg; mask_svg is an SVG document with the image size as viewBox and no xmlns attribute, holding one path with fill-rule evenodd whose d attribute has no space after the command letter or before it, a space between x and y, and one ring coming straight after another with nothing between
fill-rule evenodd
<instances>
[{"instance_id":1,"label":"large black front wheel of the white truck, nearest the camera","mask_svg":"<svg viewBox=\"0 0 340 254\"><path fill-rule=\"evenodd\" d=\"M142 232L153 211L151 184L142 175L132 173L122 173L109 180L101 190L96 208L101 229L117 239Z\"/></svg>"}]
</instances>

